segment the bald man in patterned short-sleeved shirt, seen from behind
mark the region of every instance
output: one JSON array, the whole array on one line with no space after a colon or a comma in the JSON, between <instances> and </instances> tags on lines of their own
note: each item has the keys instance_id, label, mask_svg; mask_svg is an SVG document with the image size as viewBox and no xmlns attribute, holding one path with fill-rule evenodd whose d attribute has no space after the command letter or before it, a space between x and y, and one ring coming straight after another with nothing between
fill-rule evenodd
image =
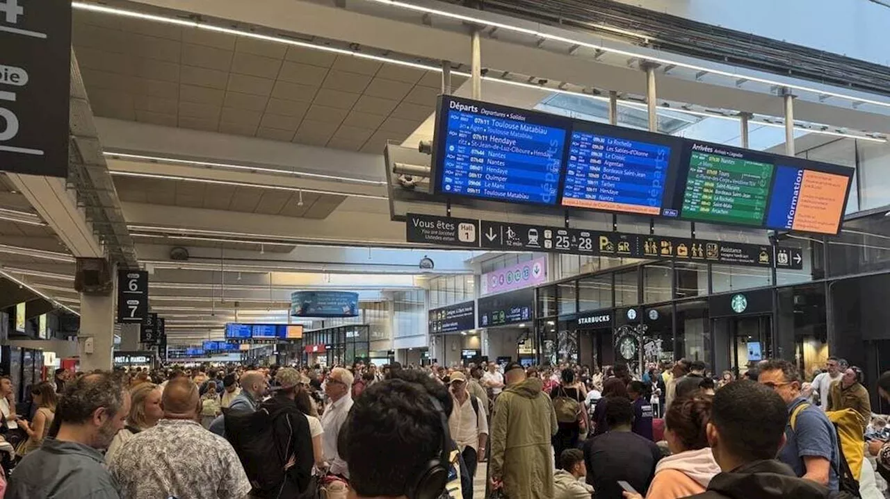
<instances>
[{"instance_id":1,"label":"bald man in patterned short-sleeved shirt, seen from behind","mask_svg":"<svg viewBox=\"0 0 890 499\"><path fill-rule=\"evenodd\" d=\"M164 418L127 440L109 471L122 497L242 499L250 481L231 444L199 423L198 386L170 380L161 398Z\"/></svg>"}]
</instances>

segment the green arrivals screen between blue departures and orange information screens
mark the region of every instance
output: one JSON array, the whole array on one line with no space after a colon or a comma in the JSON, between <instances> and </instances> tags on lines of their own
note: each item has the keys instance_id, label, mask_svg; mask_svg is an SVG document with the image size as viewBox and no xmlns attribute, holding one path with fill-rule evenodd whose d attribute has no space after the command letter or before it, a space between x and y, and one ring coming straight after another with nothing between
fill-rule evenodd
<instances>
[{"instance_id":1,"label":"green arrivals screen between blue departures and orange information screens","mask_svg":"<svg viewBox=\"0 0 890 499\"><path fill-rule=\"evenodd\" d=\"M683 195L682 218L760 226L769 198L773 165L728 150L693 147Z\"/></svg>"}]
</instances>

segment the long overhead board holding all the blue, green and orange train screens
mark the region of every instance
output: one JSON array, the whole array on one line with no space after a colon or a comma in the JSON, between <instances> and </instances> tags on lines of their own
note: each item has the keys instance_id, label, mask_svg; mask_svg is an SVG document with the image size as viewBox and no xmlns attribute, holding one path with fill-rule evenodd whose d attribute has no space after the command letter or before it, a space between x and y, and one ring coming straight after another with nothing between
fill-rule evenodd
<instances>
[{"instance_id":1,"label":"long overhead board holding all the blue, green and orange train screens","mask_svg":"<svg viewBox=\"0 0 890 499\"><path fill-rule=\"evenodd\" d=\"M450 96L433 147L443 196L812 234L837 234L853 173Z\"/></svg>"}]
</instances>

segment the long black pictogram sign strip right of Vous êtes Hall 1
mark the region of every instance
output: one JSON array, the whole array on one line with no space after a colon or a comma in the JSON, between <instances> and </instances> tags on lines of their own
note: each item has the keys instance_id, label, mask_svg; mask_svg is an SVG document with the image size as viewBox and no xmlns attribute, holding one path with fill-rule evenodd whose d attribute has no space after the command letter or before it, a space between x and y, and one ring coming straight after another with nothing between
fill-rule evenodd
<instances>
[{"instance_id":1,"label":"long black pictogram sign strip right of Vous \u00eates Hall 1","mask_svg":"<svg viewBox=\"0 0 890 499\"><path fill-rule=\"evenodd\" d=\"M725 265L773 266L773 248L765 244L706 241L685 237L625 234L587 229L529 226L481 220L481 247L514 251L546 251L572 255L671 258ZM776 248L776 265L804 268L801 250Z\"/></svg>"}]
</instances>

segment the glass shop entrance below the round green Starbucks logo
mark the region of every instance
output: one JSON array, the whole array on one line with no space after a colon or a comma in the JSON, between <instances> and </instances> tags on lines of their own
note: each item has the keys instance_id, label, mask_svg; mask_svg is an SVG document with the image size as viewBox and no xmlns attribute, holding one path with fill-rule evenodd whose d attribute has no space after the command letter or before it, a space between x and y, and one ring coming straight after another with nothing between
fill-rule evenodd
<instances>
[{"instance_id":1,"label":"glass shop entrance below the round green Starbucks logo","mask_svg":"<svg viewBox=\"0 0 890 499\"><path fill-rule=\"evenodd\" d=\"M740 376L773 353L773 316L747 315L714 319L714 372Z\"/></svg>"}]
</instances>

